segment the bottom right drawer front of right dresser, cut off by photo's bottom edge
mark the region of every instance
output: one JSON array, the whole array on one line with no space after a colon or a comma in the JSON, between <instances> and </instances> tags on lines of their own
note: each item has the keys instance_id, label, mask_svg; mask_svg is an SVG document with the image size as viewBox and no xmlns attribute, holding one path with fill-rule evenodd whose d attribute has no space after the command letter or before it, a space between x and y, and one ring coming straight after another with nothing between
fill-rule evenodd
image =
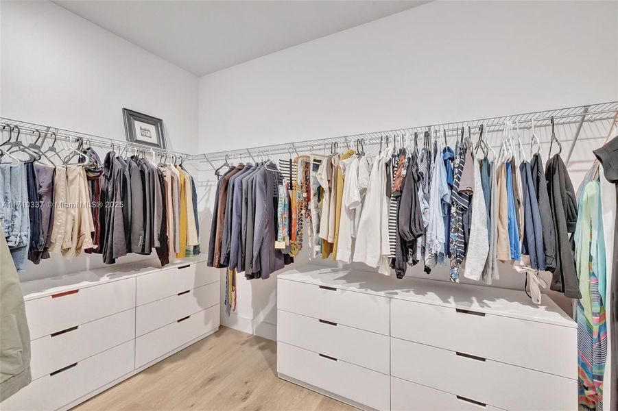
<instances>
[{"instance_id":1,"label":"bottom right drawer front of right dresser, cut off by photo's bottom edge","mask_svg":"<svg viewBox=\"0 0 618 411\"><path fill-rule=\"evenodd\" d=\"M392 411L498 411L464 397L434 390L414 382L391 377L390 409Z\"/></svg>"}]
</instances>

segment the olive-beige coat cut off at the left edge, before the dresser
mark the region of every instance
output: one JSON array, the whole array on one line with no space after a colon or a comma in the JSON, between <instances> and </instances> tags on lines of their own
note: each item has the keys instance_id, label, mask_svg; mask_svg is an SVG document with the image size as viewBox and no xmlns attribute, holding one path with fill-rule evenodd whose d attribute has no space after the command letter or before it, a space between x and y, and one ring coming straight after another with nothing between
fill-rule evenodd
<instances>
[{"instance_id":1,"label":"olive-beige coat cut off at the left edge, before the dresser","mask_svg":"<svg viewBox=\"0 0 618 411\"><path fill-rule=\"evenodd\" d=\"M0 227L0 401L31 381L30 332L23 295Z\"/></svg>"}]
</instances>

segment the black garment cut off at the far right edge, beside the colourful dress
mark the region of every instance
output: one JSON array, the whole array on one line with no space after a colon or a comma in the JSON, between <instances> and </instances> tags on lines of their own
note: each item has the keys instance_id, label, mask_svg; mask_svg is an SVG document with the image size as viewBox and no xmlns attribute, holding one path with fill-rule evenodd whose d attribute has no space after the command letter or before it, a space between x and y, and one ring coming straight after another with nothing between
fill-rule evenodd
<instances>
[{"instance_id":1,"label":"black garment cut off at the far right edge, beside the colourful dress","mask_svg":"<svg viewBox=\"0 0 618 411\"><path fill-rule=\"evenodd\" d=\"M618 136L610 140L606 145L600 149L594 151L595 155L599 159L603 166L603 173L608 182L616 186L616 203L618 204ZM604 222L605 223L605 222ZM608 222L609 223L609 222ZM611 336L610 336L610 353L612 362L618 360L618 219L614 219L614 251L613 251L613 264L612 264L612 284L610 286L610 301L611 304ZM608 302L606 302L608 303ZM612 403L608 407L605 405L606 410L615 411L618 410L618 366L612 367L611 381L612 391L611 398Z\"/></svg>"}]
</instances>

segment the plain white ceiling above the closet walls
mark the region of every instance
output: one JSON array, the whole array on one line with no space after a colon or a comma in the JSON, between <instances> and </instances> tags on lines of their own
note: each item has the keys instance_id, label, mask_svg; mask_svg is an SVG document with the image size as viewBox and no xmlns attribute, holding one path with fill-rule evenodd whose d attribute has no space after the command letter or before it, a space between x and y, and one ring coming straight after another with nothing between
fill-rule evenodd
<instances>
[{"instance_id":1,"label":"plain white ceiling above the closet walls","mask_svg":"<svg viewBox=\"0 0 618 411\"><path fill-rule=\"evenodd\" d=\"M429 0L56 0L78 16L201 76Z\"/></svg>"}]
</instances>

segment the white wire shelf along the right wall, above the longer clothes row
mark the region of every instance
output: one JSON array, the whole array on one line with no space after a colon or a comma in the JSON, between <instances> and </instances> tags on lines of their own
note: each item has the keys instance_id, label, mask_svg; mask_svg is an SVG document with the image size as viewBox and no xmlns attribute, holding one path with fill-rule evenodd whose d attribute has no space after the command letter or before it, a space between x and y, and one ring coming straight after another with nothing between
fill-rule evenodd
<instances>
[{"instance_id":1,"label":"white wire shelf along the right wall, above the longer clothes row","mask_svg":"<svg viewBox=\"0 0 618 411\"><path fill-rule=\"evenodd\" d=\"M414 142L414 133L418 133L419 145L423 141L423 133L426 131L431 132L433 138L433 132L439 132L438 138L443 138L445 135L447 138L454 138L459 136L462 127L471 127L473 134L479 133L479 127L484 125L484 133L495 134L503 132L504 124L509 121L519 126L519 130L532 129L534 123L534 129L545 129L551 127L551 121L554 120L555 127L561 126L575 126L575 132L571 138L560 138L560 142L571 142L571 147L568 151L567 163L573 152L573 147L578 140L593 140L595 138L605 138L606 136L595 136L580 138L580 132L584 124L598 124L599 122L606 121L608 126L615 118L618 112L618 101L609 101L606 103L595 103L587 105L575 105L573 107L558 108L554 110L543 110L537 112L526 112L521 114L510 114L506 116L488 117L486 119L475 119L467 121L455 121L451 123L438 123L432 125L424 125L420 127L405 127L401 129L391 129L381 132L370 132L364 134L351 134L349 136L339 136L333 138L322 138L315 140L304 140L298 142L290 142L276 145L263 145L259 147L250 147L246 149L236 149L230 151L217 151L213 153L204 153L198 155L191 155L187 160L207 162L212 169L217 168L217 162L223 162L225 160L233 160L239 158L247 158L252 161L259 160L260 158L267 158L273 155L300 155L303 153L311 153L316 151L330 151L334 145L339 148L349 147L355 148L357 140L364 140L364 146L375 146L380 144L392 144L393 140L399 139L401 142ZM467 133L467 130L466 130ZM501 140L496 140L500 142ZM549 144L549 140L540 141L540 144ZM530 145L530 142L525 144ZM498 147L499 144L493 145ZM563 152L566 154L567 151Z\"/></svg>"}]
</instances>

